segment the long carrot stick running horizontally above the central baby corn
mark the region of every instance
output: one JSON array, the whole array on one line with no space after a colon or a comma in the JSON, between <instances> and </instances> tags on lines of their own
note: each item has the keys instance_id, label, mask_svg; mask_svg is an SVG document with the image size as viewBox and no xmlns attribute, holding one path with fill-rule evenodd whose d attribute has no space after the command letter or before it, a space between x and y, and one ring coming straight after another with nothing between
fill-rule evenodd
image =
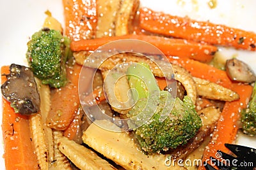
<instances>
[{"instance_id":1,"label":"long carrot stick running horizontally above the central baby corn","mask_svg":"<svg viewBox=\"0 0 256 170\"><path fill-rule=\"evenodd\" d=\"M165 55L173 55L179 57L186 57L190 59L200 60L202 62L209 62L214 53L218 50L216 46L202 45L194 41L187 41L185 39L164 38L159 36L146 36L128 34L125 36L105 37L99 39L82 39L80 41L72 41L70 48L72 51L81 50L96 50L111 41L118 39L139 39L146 41L161 50Z\"/></svg>"}]
</instances>

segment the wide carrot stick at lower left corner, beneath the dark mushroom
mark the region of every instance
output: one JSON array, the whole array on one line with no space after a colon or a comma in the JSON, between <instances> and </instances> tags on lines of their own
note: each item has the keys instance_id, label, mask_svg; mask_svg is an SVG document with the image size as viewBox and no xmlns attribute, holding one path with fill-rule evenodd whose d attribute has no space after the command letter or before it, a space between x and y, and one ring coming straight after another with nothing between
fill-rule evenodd
<instances>
[{"instance_id":1,"label":"wide carrot stick at lower left corner, beneath the dark mushroom","mask_svg":"<svg viewBox=\"0 0 256 170\"><path fill-rule=\"evenodd\" d=\"M1 67L1 74L8 74L9 66ZM1 76L1 82L6 81ZM15 113L10 103L3 98L3 141L6 170L38 169L38 161L31 141L27 116Z\"/></svg>"}]
</instances>

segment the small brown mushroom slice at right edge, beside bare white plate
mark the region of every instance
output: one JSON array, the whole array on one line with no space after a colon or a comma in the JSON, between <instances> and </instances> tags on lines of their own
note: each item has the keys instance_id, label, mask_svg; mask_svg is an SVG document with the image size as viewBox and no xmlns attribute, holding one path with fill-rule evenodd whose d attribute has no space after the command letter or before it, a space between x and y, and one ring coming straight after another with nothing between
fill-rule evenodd
<instances>
[{"instance_id":1,"label":"small brown mushroom slice at right edge, beside bare white plate","mask_svg":"<svg viewBox=\"0 0 256 170\"><path fill-rule=\"evenodd\" d=\"M226 70L231 80L243 83L252 83L253 81L256 81L256 75L252 68L241 60L227 60Z\"/></svg>"}]
</instances>

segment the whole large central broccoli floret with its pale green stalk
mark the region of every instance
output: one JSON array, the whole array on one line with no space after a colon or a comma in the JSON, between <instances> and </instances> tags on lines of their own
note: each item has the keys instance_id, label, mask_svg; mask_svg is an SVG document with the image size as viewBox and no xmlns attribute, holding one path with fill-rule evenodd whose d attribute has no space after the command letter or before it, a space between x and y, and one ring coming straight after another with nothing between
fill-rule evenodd
<instances>
[{"instance_id":1,"label":"whole large central broccoli floret with its pale green stalk","mask_svg":"<svg viewBox=\"0 0 256 170\"><path fill-rule=\"evenodd\" d=\"M145 64L132 65L127 73L130 86L139 94L137 103L127 114L128 125L145 153L177 148L195 136L202 121L190 97L185 96L181 101L167 91L160 91Z\"/></svg>"}]
</instances>

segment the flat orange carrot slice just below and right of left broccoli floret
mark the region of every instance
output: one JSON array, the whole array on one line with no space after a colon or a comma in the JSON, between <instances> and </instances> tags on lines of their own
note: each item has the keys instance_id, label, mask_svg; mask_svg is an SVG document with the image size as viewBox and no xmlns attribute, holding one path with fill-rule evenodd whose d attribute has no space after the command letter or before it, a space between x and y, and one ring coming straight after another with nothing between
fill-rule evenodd
<instances>
[{"instance_id":1,"label":"flat orange carrot slice just below and right of left broccoli floret","mask_svg":"<svg viewBox=\"0 0 256 170\"><path fill-rule=\"evenodd\" d=\"M81 66L74 65L67 69L68 84L61 89L54 89L51 96L51 108L47 125L53 129L65 130L74 119L79 105L78 80Z\"/></svg>"}]
</instances>

